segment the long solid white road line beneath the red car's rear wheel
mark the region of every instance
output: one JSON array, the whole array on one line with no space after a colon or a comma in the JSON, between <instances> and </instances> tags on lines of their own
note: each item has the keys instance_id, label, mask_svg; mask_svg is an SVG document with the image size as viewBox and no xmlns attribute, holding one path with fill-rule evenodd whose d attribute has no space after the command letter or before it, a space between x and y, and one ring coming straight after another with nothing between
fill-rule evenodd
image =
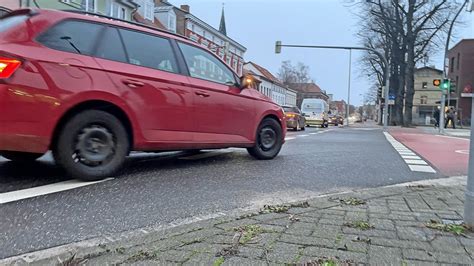
<instances>
[{"instance_id":1,"label":"long solid white road line beneath the red car's rear wheel","mask_svg":"<svg viewBox=\"0 0 474 266\"><path fill-rule=\"evenodd\" d=\"M61 192L65 190L71 190L74 188L90 186L93 184L113 180L114 178L107 178L104 180L93 181L93 182L83 182L78 180L68 180L63 182L58 182L54 184L48 184L39 187L27 188L22 190L10 191L5 193L0 193L0 204L19 201L22 199L29 199L38 196L43 196L47 194L52 194L56 192Z\"/></svg>"}]
</instances>

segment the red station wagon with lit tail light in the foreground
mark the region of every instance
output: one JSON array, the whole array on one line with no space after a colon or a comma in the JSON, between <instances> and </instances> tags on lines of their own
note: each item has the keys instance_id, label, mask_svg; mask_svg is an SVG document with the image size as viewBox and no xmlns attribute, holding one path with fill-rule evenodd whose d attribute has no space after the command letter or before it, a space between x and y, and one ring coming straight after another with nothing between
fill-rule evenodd
<instances>
[{"instance_id":1,"label":"red station wagon with lit tail light in the foreground","mask_svg":"<svg viewBox=\"0 0 474 266\"><path fill-rule=\"evenodd\" d=\"M272 159L281 107L178 35L77 12L0 19L0 155L52 150L75 178L116 173L132 150L247 148Z\"/></svg>"}]
</instances>

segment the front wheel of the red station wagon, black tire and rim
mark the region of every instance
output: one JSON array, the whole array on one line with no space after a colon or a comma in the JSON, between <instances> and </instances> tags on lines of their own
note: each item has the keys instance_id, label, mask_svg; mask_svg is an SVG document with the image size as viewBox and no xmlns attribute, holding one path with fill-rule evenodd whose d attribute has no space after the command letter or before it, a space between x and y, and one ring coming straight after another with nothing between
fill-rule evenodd
<instances>
[{"instance_id":1,"label":"front wheel of the red station wagon, black tire and rim","mask_svg":"<svg viewBox=\"0 0 474 266\"><path fill-rule=\"evenodd\" d=\"M258 126L255 140L255 146L247 149L250 155L259 160L275 158L283 145L281 125L275 119L263 119Z\"/></svg>"}]
</instances>

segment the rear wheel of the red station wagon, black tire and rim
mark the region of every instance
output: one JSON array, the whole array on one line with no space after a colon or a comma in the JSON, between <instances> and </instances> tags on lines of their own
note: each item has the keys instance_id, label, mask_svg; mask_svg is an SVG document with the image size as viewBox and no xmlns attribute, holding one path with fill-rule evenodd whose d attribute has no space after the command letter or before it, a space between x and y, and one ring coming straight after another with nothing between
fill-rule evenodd
<instances>
[{"instance_id":1,"label":"rear wheel of the red station wagon, black tire and rim","mask_svg":"<svg viewBox=\"0 0 474 266\"><path fill-rule=\"evenodd\" d=\"M120 120L104 111L89 110L64 124L53 156L70 176L94 181L114 175L129 148L128 134Z\"/></svg>"}]
</instances>

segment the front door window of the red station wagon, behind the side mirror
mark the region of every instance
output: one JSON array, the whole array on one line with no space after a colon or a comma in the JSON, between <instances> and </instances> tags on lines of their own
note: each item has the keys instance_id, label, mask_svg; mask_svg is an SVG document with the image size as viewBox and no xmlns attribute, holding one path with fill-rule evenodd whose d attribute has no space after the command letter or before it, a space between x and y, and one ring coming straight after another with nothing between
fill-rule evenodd
<instances>
[{"instance_id":1,"label":"front door window of the red station wagon, behind the side mirror","mask_svg":"<svg viewBox=\"0 0 474 266\"><path fill-rule=\"evenodd\" d=\"M180 42L178 44L183 52L184 60L188 65L191 77L222 84L236 83L232 71L215 56L192 45Z\"/></svg>"}]
</instances>

